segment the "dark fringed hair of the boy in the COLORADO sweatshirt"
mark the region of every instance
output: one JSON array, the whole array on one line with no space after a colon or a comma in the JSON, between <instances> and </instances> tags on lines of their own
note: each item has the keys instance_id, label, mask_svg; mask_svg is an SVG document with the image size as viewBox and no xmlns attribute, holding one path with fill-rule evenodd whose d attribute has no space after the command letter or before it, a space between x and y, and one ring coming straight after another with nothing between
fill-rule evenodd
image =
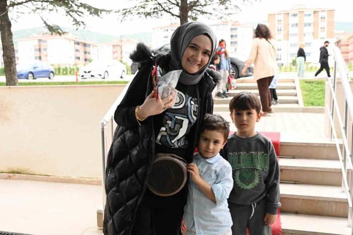
<instances>
[{"instance_id":1,"label":"dark fringed hair of the boy in the COLORADO sweatshirt","mask_svg":"<svg viewBox=\"0 0 353 235\"><path fill-rule=\"evenodd\" d=\"M255 109L257 114L261 111L261 102L259 97L254 93L243 91L234 96L229 102L229 111L242 111L248 109Z\"/></svg>"}]
</instances>

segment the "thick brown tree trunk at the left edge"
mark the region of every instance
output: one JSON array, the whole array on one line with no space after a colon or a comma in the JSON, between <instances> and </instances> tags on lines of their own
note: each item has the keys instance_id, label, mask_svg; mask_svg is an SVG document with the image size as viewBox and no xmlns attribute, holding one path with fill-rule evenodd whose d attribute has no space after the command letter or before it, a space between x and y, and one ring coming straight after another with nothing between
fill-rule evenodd
<instances>
[{"instance_id":1,"label":"thick brown tree trunk at the left edge","mask_svg":"<svg viewBox=\"0 0 353 235\"><path fill-rule=\"evenodd\" d=\"M16 57L7 0L0 0L0 33L7 86L17 86Z\"/></svg>"}]
</instances>

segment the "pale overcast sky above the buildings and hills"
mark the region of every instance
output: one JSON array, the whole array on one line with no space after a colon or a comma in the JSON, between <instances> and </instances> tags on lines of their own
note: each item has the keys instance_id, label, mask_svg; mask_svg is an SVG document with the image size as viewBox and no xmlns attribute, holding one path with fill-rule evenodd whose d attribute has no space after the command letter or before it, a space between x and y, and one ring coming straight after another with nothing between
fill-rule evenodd
<instances>
[{"instance_id":1,"label":"pale overcast sky above the buildings and hills","mask_svg":"<svg viewBox=\"0 0 353 235\"><path fill-rule=\"evenodd\" d=\"M105 8L105 9L119 9L122 7L127 7L132 5L134 1L131 0L86 0L95 7ZM353 22L353 17L351 14L351 7L347 6L346 0L297 0L295 3L290 5L293 1L283 1L283 0L262 0L257 1L253 5L244 5L243 1L239 1L241 4L239 7L242 9L241 12L232 16L231 19L234 21L244 22L261 22L267 21L267 14L288 10L293 5L305 5L308 8L328 8L335 9L335 21ZM70 22L60 15L50 15L52 23L59 24L61 26L70 27ZM218 22L218 19L204 20L206 23ZM94 32L108 33L108 34L128 34L128 33L139 33L139 32L150 32L152 28L166 25L170 22L179 22L178 19L173 19L170 17L164 17L163 19L136 19L129 20L126 22L119 22L117 17L114 15L104 16L102 19L87 17L85 19L87 23L87 29ZM65 23L58 23L65 22ZM28 29L34 27L43 26L41 20L36 15L23 15L17 22L12 22L12 29Z\"/></svg>"}]
</instances>

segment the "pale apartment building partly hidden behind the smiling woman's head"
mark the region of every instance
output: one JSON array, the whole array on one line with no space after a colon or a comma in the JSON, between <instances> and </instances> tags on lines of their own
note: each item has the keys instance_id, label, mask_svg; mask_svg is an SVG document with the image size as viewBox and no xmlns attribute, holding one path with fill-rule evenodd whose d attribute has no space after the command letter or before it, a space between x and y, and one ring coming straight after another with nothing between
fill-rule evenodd
<instances>
[{"instance_id":1,"label":"pale apartment building partly hidden behind the smiling woman's head","mask_svg":"<svg viewBox=\"0 0 353 235\"><path fill-rule=\"evenodd\" d=\"M179 25L178 23L171 23L154 28L152 31L152 48L170 43L171 35ZM251 50L254 32L251 25L242 25L236 21L225 21L209 26L217 37L217 43L220 39L224 39L232 56L236 56L240 60L246 60Z\"/></svg>"}]
</instances>

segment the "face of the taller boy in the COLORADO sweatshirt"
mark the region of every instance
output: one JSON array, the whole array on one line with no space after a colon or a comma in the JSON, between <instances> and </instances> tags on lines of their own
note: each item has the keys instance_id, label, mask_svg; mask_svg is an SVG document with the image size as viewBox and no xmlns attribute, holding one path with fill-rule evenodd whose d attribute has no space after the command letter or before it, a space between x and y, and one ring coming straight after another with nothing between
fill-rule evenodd
<instances>
[{"instance_id":1,"label":"face of the taller boy in the COLORADO sweatshirt","mask_svg":"<svg viewBox=\"0 0 353 235\"><path fill-rule=\"evenodd\" d=\"M230 118L238 132L251 135L255 131L255 124L260 121L261 113L257 113L255 109L233 110Z\"/></svg>"}]
</instances>

